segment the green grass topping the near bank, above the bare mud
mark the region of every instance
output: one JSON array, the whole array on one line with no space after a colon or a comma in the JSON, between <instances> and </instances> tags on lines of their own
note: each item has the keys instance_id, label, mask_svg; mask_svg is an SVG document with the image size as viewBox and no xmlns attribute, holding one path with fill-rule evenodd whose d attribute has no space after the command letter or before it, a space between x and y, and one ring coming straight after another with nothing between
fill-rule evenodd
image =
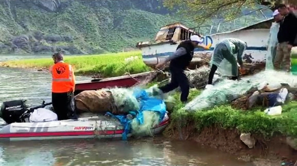
<instances>
[{"instance_id":1,"label":"green grass topping the near bank, above the bare mud","mask_svg":"<svg viewBox=\"0 0 297 166\"><path fill-rule=\"evenodd\" d=\"M199 94L198 90L190 92L189 99ZM171 124L167 130L185 127L193 124L197 132L205 127L217 126L223 129L237 129L241 133L260 134L266 138L274 134L297 137L297 101L282 106L282 114L278 116L266 115L265 108L254 108L243 111L221 105L208 110L186 111L179 101L179 93L175 94L176 107L171 112ZM199 104L199 103L197 103Z\"/></svg>"}]
</instances>

